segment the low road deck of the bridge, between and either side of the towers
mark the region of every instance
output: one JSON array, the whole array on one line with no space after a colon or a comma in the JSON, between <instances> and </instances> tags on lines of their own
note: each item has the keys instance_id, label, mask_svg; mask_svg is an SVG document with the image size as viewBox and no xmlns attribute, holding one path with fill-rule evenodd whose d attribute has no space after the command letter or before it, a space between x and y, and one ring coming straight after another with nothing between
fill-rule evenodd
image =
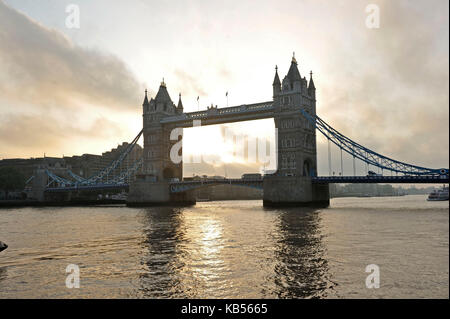
<instances>
[{"instance_id":1,"label":"low road deck of the bridge, between and either side of the towers","mask_svg":"<svg viewBox=\"0 0 450 319\"><path fill-rule=\"evenodd\" d=\"M418 175L418 176L316 176L312 178L314 184L448 184L448 175ZM246 186L257 189L263 189L263 178L224 178L224 179L206 179L198 181L179 181L170 183L172 193L185 192L187 190L228 184L237 186ZM60 193L70 191L94 191L94 190L128 190L129 185L123 184L97 184L97 185L78 185L69 187L49 187L46 192Z\"/></svg>"}]
</instances>

